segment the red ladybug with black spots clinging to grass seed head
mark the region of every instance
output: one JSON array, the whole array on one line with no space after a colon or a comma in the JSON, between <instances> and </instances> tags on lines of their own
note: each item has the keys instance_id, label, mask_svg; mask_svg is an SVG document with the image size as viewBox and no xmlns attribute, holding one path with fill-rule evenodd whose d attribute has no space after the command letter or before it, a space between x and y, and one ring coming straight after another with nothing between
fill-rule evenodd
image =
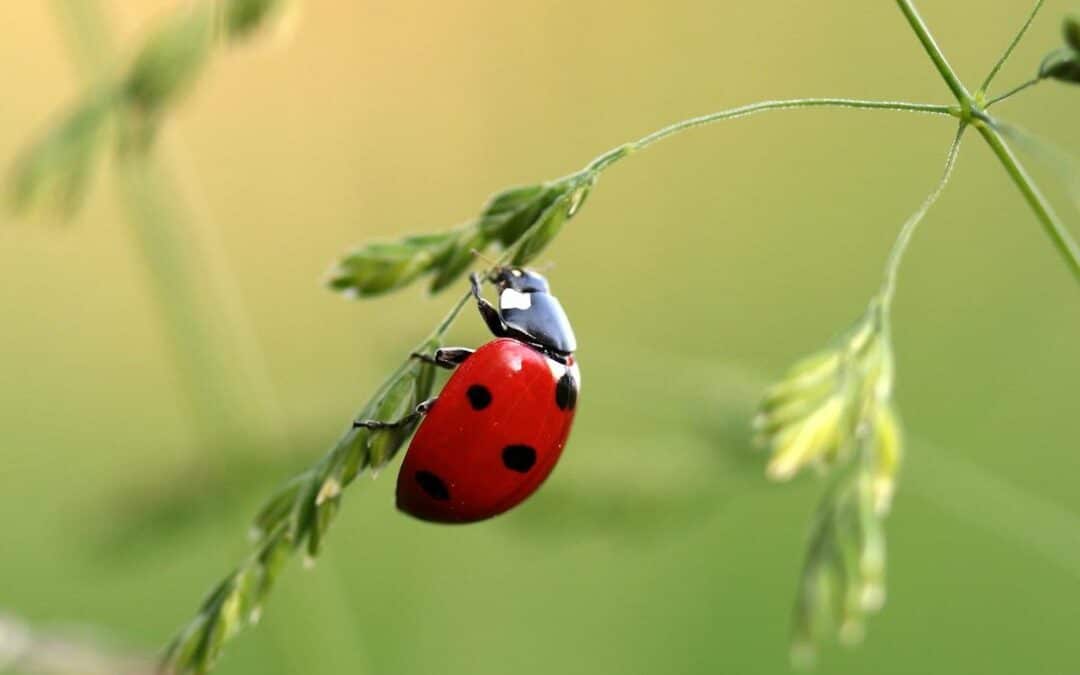
<instances>
[{"instance_id":1,"label":"red ladybug with black spots clinging to grass seed head","mask_svg":"<svg viewBox=\"0 0 1080 675\"><path fill-rule=\"evenodd\" d=\"M397 508L435 523L474 523L508 511L544 482L573 422L581 375L577 341L563 306L541 274L497 267L488 276L496 308L470 276L481 316L496 336L480 349L413 354L455 369L435 399L397 421L355 427L401 428L423 418L397 474Z\"/></svg>"}]
</instances>

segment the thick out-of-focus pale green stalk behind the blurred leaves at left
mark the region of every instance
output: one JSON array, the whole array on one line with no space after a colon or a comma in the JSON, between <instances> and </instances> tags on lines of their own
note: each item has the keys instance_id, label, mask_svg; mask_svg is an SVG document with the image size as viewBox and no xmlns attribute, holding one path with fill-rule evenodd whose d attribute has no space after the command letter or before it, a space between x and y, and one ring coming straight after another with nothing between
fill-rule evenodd
<instances>
[{"instance_id":1,"label":"thick out-of-focus pale green stalk behind the blurred leaves at left","mask_svg":"<svg viewBox=\"0 0 1080 675\"><path fill-rule=\"evenodd\" d=\"M104 80L112 67L111 38L97 0L53 0L53 8L84 79ZM126 123L119 117L116 123ZM283 437L281 417L235 280L160 151L118 153L117 179L194 433L203 447L226 457L252 442L272 446Z\"/></svg>"}]
</instances>

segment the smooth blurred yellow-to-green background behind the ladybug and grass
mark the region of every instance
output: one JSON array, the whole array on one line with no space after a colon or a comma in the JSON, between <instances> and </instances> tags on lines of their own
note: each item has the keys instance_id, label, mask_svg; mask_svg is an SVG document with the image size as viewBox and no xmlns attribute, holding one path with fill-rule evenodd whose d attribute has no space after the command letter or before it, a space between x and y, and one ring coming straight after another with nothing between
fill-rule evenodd
<instances>
[{"instance_id":1,"label":"smooth blurred yellow-to-green background behind the ladybug and grass","mask_svg":"<svg viewBox=\"0 0 1080 675\"><path fill-rule=\"evenodd\" d=\"M130 52L176 4L105 6ZM1026 4L921 9L975 83ZM1048 2L999 89L1058 44L1074 6ZM50 3L0 17L8 163L82 84ZM502 187L715 109L948 102L885 1L306 2L287 32L216 59L166 133L239 280L287 451L200 472L226 450L197 442L107 168L70 224L5 222L0 611L150 652L190 618L245 555L259 500L451 302L419 287L334 296L319 282L348 247L443 229ZM1048 83L999 112L1076 151L1077 95ZM357 481L319 564L289 567L219 672L786 672L821 485L767 484L740 426L764 382L861 313L953 132L926 116L774 112L608 172L544 254L584 374L546 486L447 528L394 511L392 472ZM1077 672L1080 305L974 135L905 261L894 322L910 442L889 602L820 672ZM484 339L467 312L451 342Z\"/></svg>"}]
</instances>

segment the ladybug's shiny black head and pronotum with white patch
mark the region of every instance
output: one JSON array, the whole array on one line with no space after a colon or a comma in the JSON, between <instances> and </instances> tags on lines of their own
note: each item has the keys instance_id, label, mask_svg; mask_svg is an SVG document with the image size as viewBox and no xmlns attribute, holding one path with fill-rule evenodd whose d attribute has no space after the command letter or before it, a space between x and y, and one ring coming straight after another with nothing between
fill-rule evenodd
<instances>
[{"instance_id":1,"label":"ladybug's shiny black head and pronotum with white patch","mask_svg":"<svg viewBox=\"0 0 1080 675\"><path fill-rule=\"evenodd\" d=\"M508 335L559 360L578 348L570 320L541 274L500 267L490 280L499 289L499 316Z\"/></svg>"}]
</instances>

